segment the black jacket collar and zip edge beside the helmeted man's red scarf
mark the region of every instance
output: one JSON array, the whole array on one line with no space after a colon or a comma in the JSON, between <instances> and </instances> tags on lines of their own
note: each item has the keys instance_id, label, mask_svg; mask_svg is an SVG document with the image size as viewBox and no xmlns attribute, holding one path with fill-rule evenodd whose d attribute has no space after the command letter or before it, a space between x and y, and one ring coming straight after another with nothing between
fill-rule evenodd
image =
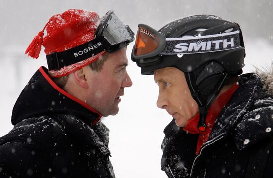
<instances>
[{"instance_id":1,"label":"black jacket collar and zip edge beside the helmeted man's red scarf","mask_svg":"<svg viewBox=\"0 0 273 178\"><path fill-rule=\"evenodd\" d=\"M197 177L197 170L200 169L200 165L204 161L204 159L201 158L205 155L205 153L203 153L205 149L210 149L210 145L226 138L234 132L238 123L240 123L245 114L249 112L253 104L255 93L261 88L260 78L257 74L245 74L240 76L240 78L243 81L242 84L239 84L238 89L218 115L208 141L203 144L199 155L194 159L190 172L191 178ZM234 136L236 141L237 134Z\"/></svg>"}]
</instances>

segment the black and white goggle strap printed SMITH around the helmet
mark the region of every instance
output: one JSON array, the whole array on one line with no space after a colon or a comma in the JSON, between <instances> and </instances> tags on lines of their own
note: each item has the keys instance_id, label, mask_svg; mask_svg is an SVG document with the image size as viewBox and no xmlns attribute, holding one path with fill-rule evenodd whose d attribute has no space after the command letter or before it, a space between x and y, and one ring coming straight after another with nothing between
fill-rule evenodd
<instances>
[{"instance_id":1,"label":"black and white goggle strap printed SMITH around the helmet","mask_svg":"<svg viewBox=\"0 0 273 178\"><path fill-rule=\"evenodd\" d=\"M166 38L165 49L161 54L195 54L230 50L238 47L241 47L239 30L200 37Z\"/></svg>"}]
</instances>

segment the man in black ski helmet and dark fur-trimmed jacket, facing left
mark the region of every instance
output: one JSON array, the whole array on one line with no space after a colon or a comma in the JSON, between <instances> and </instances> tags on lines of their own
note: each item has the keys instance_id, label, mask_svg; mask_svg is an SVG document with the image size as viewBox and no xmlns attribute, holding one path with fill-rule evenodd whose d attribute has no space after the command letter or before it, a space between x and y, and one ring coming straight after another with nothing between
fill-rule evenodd
<instances>
[{"instance_id":1,"label":"man in black ski helmet and dark fur-trimmed jacket, facing left","mask_svg":"<svg viewBox=\"0 0 273 178\"><path fill-rule=\"evenodd\" d=\"M239 25L217 16L181 18L159 31L139 24L132 60L154 75L157 106L173 117L162 143L168 177L273 177L270 76L240 75L244 57Z\"/></svg>"}]
</instances>

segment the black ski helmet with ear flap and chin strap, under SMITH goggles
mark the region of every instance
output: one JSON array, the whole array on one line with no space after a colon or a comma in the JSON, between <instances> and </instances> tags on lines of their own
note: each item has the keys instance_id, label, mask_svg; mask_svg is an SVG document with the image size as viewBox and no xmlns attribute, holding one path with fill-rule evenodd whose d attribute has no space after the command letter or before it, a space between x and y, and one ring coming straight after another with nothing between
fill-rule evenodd
<instances>
[{"instance_id":1,"label":"black ski helmet with ear flap and chin strap, under SMITH goggles","mask_svg":"<svg viewBox=\"0 0 273 178\"><path fill-rule=\"evenodd\" d=\"M139 26L145 27L144 24L139 24ZM142 30L142 32L153 36L153 32L149 32L149 26L146 27L147 28L140 27L138 31ZM132 60L141 67L141 74L153 74L155 70L165 67L176 67L184 72L191 94L199 106L200 122L198 127L201 131L204 131L206 127L205 117L208 108L223 88L226 80L230 76L237 76L242 73L245 48L241 29L237 23L224 20L214 15L194 15L172 21L162 27L158 32L163 35L165 39L179 37L202 38L203 36L211 36L212 40L217 34L237 33L237 36L234 37L234 39L232 38L232 42L234 40L237 45L228 50L206 51L206 49L210 49L212 42L214 43L214 48L216 45L218 45L216 48L219 48L219 45L223 45L223 42L227 42L224 41L226 39L221 41L215 39L215 41L203 42L206 46L204 45L204 51L201 52L171 55L164 55L164 52L170 48L166 43L163 45L165 49L163 50L164 47L161 47L162 51L157 56L149 56L146 54L143 56L147 57L143 58L141 58L141 55L137 56L138 58L136 57L136 44L133 47ZM199 40L195 44L196 46L199 45L199 49L201 48L200 43L202 43L203 40ZM210 43L209 47L207 47L208 43ZM148 43L146 45L148 45ZM180 49L183 47L187 49L187 47L190 46L188 44L184 46L177 45ZM160 46L158 48L160 48ZM172 49L173 48L171 48L171 50Z\"/></svg>"}]
</instances>

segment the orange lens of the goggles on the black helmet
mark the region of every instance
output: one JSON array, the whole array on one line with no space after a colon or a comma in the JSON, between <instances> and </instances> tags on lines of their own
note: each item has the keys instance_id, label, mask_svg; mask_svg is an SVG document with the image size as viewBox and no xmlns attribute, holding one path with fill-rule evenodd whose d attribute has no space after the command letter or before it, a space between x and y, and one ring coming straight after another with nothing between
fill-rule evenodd
<instances>
[{"instance_id":1,"label":"orange lens of the goggles on the black helmet","mask_svg":"<svg viewBox=\"0 0 273 178\"><path fill-rule=\"evenodd\" d=\"M159 46L159 38L154 33L147 30L145 27L138 27L136 42L135 42L135 55L144 55L151 53Z\"/></svg>"}]
</instances>

